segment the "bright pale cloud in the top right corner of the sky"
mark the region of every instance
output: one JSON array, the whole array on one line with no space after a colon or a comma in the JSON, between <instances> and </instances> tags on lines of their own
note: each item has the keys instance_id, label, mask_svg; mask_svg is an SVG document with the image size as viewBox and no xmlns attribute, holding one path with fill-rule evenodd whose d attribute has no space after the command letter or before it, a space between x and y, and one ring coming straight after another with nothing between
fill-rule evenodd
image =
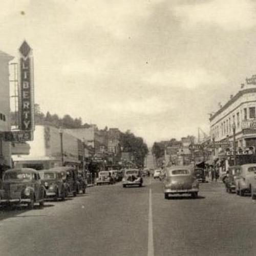
<instances>
[{"instance_id":1,"label":"bright pale cloud in the top right corner of the sky","mask_svg":"<svg viewBox=\"0 0 256 256\"><path fill-rule=\"evenodd\" d=\"M174 13L185 27L207 23L225 30L238 30L255 26L255 4L250 0L214 0L181 5L174 8Z\"/></svg>"}]
</instances>

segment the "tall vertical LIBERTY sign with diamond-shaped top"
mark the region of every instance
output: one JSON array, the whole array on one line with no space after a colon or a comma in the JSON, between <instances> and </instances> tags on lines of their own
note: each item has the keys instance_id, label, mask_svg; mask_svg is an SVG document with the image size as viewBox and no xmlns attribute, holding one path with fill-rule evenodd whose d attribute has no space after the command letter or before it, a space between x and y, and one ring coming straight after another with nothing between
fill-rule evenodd
<instances>
[{"instance_id":1,"label":"tall vertical LIBERTY sign with diamond-shaped top","mask_svg":"<svg viewBox=\"0 0 256 256\"><path fill-rule=\"evenodd\" d=\"M34 130L34 83L33 58L26 41L19 48L20 83L19 83L19 130Z\"/></svg>"}]
</instances>

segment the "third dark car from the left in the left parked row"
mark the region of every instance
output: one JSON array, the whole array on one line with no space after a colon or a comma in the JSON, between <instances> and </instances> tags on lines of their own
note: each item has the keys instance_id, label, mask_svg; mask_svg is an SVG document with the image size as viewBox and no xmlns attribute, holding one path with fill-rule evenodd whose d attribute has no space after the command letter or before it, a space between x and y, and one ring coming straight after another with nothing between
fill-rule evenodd
<instances>
[{"instance_id":1,"label":"third dark car from the left in the left parked row","mask_svg":"<svg viewBox=\"0 0 256 256\"><path fill-rule=\"evenodd\" d=\"M49 170L57 170L61 174L65 186L65 197L74 196L76 197L78 191L78 171L73 166L58 166Z\"/></svg>"}]
</instances>

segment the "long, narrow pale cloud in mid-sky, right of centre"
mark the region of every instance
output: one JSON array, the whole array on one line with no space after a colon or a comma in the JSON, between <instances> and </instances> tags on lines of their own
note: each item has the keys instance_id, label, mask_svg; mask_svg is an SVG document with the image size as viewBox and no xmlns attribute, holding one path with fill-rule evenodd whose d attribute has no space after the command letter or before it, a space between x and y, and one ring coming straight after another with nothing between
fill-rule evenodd
<instances>
[{"instance_id":1,"label":"long, narrow pale cloud in mid-sky, right of centre","mask_svg":"<svg viewBox=\"0 0 256 256\"><path fill-rule=\"evenodd\" d=\"M210 73L202 68L197 69L175 69L159 71L149 75L145 79L150 84L163 87L195 89L202 85L210 85L225 82L221 74Z\"/></svg>"}]
</instances>

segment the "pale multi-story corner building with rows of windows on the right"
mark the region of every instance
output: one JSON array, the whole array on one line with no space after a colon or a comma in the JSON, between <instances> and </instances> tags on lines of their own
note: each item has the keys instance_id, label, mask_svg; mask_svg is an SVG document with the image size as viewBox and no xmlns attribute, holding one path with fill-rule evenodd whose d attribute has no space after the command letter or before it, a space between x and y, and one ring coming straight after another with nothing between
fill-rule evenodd
<instances>
[{"instance_id":1,"label":"pale multi-story corner building with rows of windows on the right","mask_svg":"<svg viewBox=\"0 0 256 256\"><path fill-rule=\"evenodd\" d=\"M241 90L210 116L210 136L215 141L233 141L238 150L256 148L256 83L242 84ZM232 145L233 143L231 143Z\"/></svg>"}]
</instances>

